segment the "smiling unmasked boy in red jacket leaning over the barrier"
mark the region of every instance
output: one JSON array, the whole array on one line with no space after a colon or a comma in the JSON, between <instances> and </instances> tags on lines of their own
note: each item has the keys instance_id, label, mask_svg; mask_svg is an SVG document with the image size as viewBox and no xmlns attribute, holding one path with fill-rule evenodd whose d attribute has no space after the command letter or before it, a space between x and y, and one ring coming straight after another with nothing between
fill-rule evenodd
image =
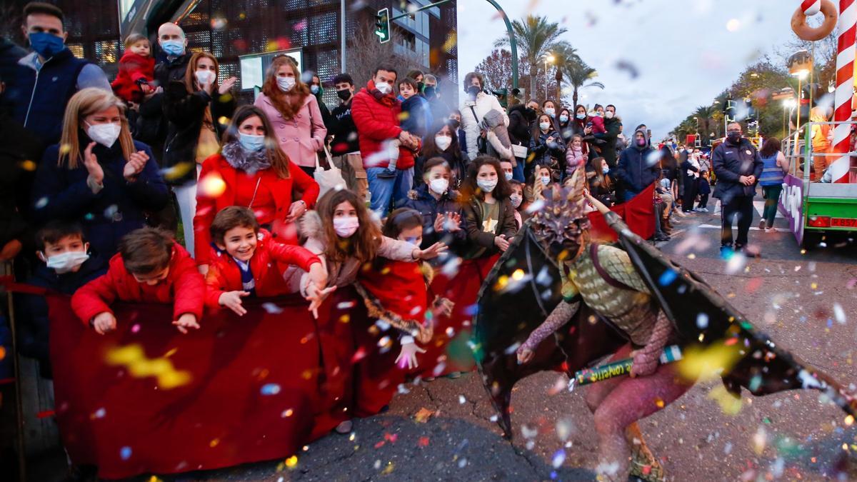
<instances>
[{"instance_id":1,"label":"smiling unmasked boy in red jacket leaning over the barrier","mask_svg":"<svg viewBox=\"0 0 857 482\"><path fill-rule=\"evenodd\" d=\"M269 297L290 292L279 263L296 265L309 273L307 290L312 307L327 286L327 270L321 259L300 246L277 243L261 230L253 211L230 206L214 216L211 237L216 246L206 274L206 306L225 306L238 316L247 313L241 298Z\"/></svg>"}]
</instances>

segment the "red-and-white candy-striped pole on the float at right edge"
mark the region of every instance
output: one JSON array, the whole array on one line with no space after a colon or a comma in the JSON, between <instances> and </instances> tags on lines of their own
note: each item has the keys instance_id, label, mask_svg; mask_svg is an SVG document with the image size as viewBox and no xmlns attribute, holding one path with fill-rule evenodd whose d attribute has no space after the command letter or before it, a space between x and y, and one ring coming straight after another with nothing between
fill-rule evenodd
<instances>
[{"instance_id":1,"label":"red-and-white candy-striped pole on the float at right edge","mask_svg":"<svg viewBox=\"0 0 857 482\"><path fill-rule=\"evenodd\" d=\"M804 2L806 3L806 2ZM802 5L802 4L801 4ZM846 123L851 120L851 99L854 97L854 39L857 33L857 1L839 0L838 45L836 48L836 96L833 120ZM830 165L835 183L848 183L848 156L851 134L850 124L836 124L833 131L833 152L843 154Z\"/></svg>"}]
</instances>

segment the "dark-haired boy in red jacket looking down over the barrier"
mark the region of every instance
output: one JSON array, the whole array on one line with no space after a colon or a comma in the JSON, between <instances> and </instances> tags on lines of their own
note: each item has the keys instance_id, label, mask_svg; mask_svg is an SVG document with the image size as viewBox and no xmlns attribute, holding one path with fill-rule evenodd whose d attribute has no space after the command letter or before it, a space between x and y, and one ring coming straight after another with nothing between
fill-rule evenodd
<instances>
[{"instance_id":1,"label":"dark-haired boy in red jacket looking down over the barrier","mask_svg":"<svg viewBox=\"0 0 857 482\"><path fill-rule=\"evenodd\" d=\"M116 329L110 305L115 301L173 304L178 331L200 328L206 284L188 251L165 231L144 227L119 242L107 274L88 282L71 298L84 323L106 334Z\"/></svg>"}]
</instances>

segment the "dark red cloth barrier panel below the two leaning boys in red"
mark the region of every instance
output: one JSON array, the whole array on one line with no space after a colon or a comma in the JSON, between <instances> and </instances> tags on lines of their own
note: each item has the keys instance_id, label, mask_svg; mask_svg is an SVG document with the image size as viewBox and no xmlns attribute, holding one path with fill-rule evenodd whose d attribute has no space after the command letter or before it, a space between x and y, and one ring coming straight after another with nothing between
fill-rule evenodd
<instances>
[{"instance_id":1,"label":"dark red cloth barrier panel below the two leaning boys in red","mask_svg":"<svg viewBox=\"0 0 857 482\"><path fill-rule=\"evenodd\" d=\"M105 336L75 317L68 297L47 299L63 445L103 478L287 457L307 443L335 391L325 377L333 367L319 365L323 337L300 298L251 300L240 318L207 313L187 335L171 325L169 305L117 304L117 331ZM321 311L341 315L331 303ZM316 431L330 424L320 416Z\"/></svg>"}]
</instances>

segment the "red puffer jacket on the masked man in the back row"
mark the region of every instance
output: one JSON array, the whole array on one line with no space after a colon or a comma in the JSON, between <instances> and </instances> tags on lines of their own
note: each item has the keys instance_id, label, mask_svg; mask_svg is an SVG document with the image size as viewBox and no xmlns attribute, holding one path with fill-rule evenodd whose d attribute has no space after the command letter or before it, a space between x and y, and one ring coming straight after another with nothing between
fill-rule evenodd
<instances>
[{"instance_id":1,"label":"red puffer jacket on the masked man in the back row","mask_svg":"<svg viewBox=\"0 0 857 482\"><path fill-rule=\"evenodd\" d=\"M369 84L356 93L351 100L351 118L357 127L364 168L389 166L389 157L383 153L380 155L376 153L381 151L384 141L396 139L402 133L402 128L399 127L402 103L393 97L393 94L387 94L385 101L389 105L382 104L372 95L371 91L374 90L375 82L369 81ZM413 166L414 154L410 149L400 147L396 167L408 169Z\"/></svg>"}]
</instances>

